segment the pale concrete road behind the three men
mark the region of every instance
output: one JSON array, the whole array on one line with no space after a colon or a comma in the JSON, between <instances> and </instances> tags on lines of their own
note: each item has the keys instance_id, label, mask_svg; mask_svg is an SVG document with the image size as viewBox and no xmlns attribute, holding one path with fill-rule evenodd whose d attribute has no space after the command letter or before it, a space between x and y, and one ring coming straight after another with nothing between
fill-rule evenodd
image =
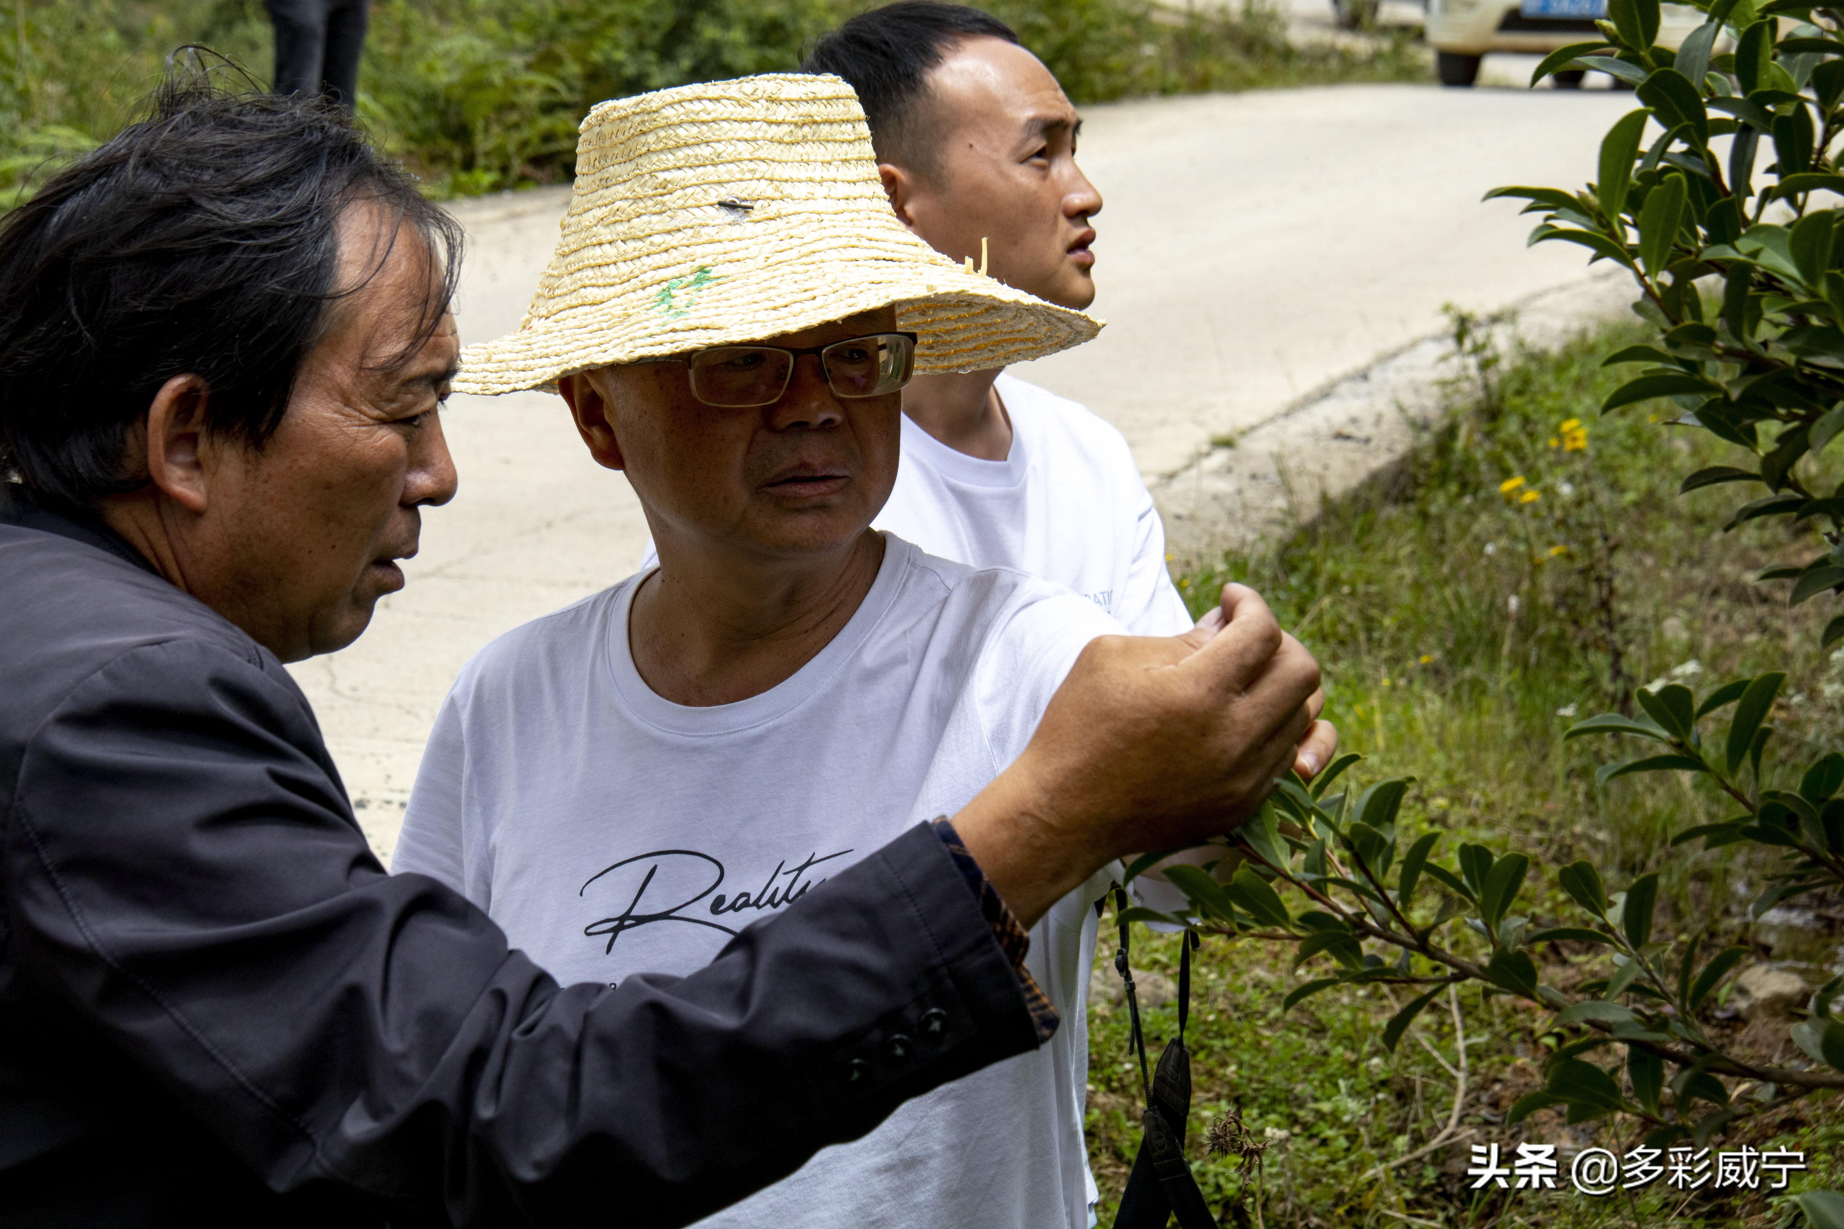
<instances>
[{"instance_id":1,"label":"pale concrete road behind the three men","mask_svg":"<svg viewBox=\"0 0 1844 1229\"><path fill-rule=\"evenodd\" d=\"M1022 369L1121 427L1149 477L1213 435L1440 328L1586 276L1573 247L1525 251L1495 184L1577 186L1630 94L1337 87L1092 107L1082 164L1097 217L1095 311L1081 350ZM516 328L555 240L559 190L468 201L465 341ZM461 494L424 518L409 586L365 638L295 667L387 855L435 709L492 636L627 575L645 525L562 404L455 396Z\"/></svg>"}]
</instances>

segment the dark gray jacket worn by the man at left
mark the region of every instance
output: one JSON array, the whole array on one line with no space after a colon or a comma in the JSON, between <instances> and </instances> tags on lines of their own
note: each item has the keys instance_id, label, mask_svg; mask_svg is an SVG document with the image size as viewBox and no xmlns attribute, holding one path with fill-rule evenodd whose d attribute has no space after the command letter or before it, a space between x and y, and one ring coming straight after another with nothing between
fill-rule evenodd
<instances>
[{"instance_id":1,"label":"dark gray jacket worn by the man at left","mask_svg":"<svg viewBox=\"0 0 1844 1229\"><path fill-rule=\"evenodd\" d=\"M7 1229L697 1220L1036 1045L968 884L916 827L693 977L559 988L384 872L267 650L0 509Z\"/></svg>"}]
</instances>

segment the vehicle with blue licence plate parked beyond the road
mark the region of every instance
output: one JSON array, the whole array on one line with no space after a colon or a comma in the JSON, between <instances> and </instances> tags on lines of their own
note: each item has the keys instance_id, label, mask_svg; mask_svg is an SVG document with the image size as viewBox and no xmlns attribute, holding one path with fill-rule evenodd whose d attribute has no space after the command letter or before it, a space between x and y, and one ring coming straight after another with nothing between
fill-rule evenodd
<instances>
[{"instance_id":1,"label":"vehicle with blue licence plate parked beyond the road","mask_svg":"<svg viewBox=\"0 0 1844 1229\"><path fill-rule=\"evenodd\" d=\"M1427 44L1435 48L1442 85L1472 85L1488 52L1545 55L1597 37L1595 18L1606 15L1606 0L1427 0ZM1661 6L1660 17L1658 41L1669 48L1704 20L1684 4ZM1558 87L1580 83L1580 72L1556 74Z\"/></svg>"}]
</instances>

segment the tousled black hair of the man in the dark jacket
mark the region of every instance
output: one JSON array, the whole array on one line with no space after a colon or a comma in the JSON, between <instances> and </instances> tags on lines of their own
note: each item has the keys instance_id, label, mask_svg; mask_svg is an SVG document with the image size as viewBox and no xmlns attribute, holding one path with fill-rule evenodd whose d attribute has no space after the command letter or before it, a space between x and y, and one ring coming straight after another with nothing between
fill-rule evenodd
<instances>
[{"instance_id":1,"label":"tousled black hair of the man in the dark jacket","mask_svg":"<svg viewBox=\"0 0 1844 1229\"><path fill-rule=\"evenodd\" d=\"M205 427L262 448L358 289L339 286L349 205L396 214L441 269L415 348L454 297L461 228L341 107L214 76L170 68L144 120L0 221L0 479L41 501L144 486L135 427L188 372Z\"/></svg>"}]
</instances>

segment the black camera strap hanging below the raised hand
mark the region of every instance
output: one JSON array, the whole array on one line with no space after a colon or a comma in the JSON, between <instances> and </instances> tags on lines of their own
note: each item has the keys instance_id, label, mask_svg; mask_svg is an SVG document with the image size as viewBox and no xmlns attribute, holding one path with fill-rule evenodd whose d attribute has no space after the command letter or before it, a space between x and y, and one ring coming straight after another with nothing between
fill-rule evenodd
<instances>
[{"instance_id":1,"label":"black camera strap hanging below the raised hand","mask_svg":"<svg viewBox=\"0 0 1844 1229\"><path fill-rule=\"evenodd\" d=\"M1114 907L1127 908L1127 892L1114 888ZM1134 973L1129 964L1129 929L1121 923L1121 949L1114 967L1127 989L1127 1013L1132 1026L1132 1050L1140 1061L1140 1091L1145 1096L1141 1115L1140 1153L1121 1194L1121 1209L1114 1214L1114 1229L1165 1229L1173 1216L1180 1229L1217 1229L1204 1192L1197 1188L1191 1163L1184 1159L1186 1118L1191 1115L1191 1052L1184 1048L1184 1026L1191 1012L1191 951L1199 938L1186 931L1178 943L1178 1036L1158 1056L1158 1067L1147 1078L1147 1041L1140 1028L1140 999L1134 993Z\"/></svg>"}]
</instances>

